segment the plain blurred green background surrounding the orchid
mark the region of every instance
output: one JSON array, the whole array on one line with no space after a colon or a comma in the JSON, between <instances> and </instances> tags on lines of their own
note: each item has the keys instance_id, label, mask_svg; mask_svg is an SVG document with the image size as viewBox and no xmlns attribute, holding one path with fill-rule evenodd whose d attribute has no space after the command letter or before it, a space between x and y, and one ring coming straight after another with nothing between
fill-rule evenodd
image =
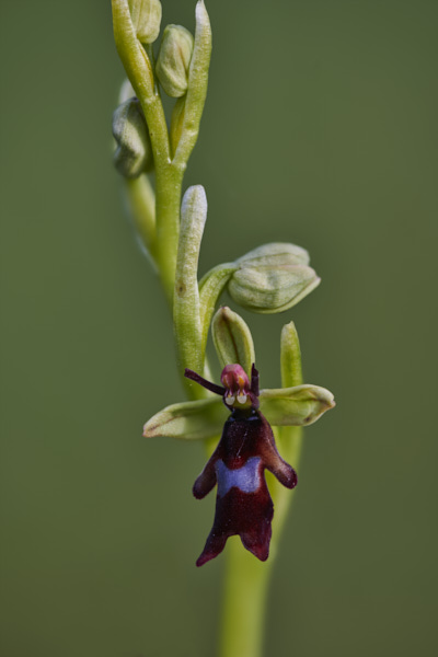
<instances>
[{"instance_id":1,"label":"plain blurred green background surrounding the orchid","mask_svg":"<svg viewBox=\"0 0 438 657\"><path fill-rule=\"evenodd\" d=\"M193 30L194 0L163 4ZM110 2L0 7L0 655L214 656L224 556L195 568L204 452L141 438L183 393L112 168ZM306 430L266 654L435 656L438 3L207 7L185 178L209 199L200 270L268 241L308 249L318 290L244 316L264 387L293 319L306 381L337 400Z\"/></svg>"}]
</instances>

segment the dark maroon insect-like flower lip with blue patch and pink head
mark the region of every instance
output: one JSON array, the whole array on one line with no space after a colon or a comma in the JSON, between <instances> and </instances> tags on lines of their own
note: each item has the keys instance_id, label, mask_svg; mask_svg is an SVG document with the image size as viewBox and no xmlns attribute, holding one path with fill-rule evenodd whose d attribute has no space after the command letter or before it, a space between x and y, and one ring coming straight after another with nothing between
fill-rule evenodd
<instances>
[{"instance_id":1,"label":"dark maroon insect-like flower lip with blue patch and pink head","mask_svg":"<svg viewBox=\"0 0 438 657\"><path fill-rule=\"evenodd\" d=\"M185 376L222 395L231 411L218 447L193 486L194 496L201 499L218 485L215 521L196 565L215 558L234 534L246 550L266 561L274 505L264 471L269 470L287 488L297 485L297 473L279 456L269 423L258 411L258 372L253 365L251 385L240 365L223 368L223 387L188 369Z\"/></svg>"}]
</instances>

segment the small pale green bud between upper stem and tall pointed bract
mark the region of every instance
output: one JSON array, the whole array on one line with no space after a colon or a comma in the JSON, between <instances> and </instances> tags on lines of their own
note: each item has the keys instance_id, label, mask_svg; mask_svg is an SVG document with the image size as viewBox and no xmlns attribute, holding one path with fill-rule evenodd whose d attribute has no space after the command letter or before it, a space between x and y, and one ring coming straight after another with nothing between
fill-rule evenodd
<instances>
[{"instance_id":1,"label":"small pale green bud between upper stem and tall pointed bract","mask_svg":"<svg viewBox=\"0 0 438 657\"><path fill-rule=\"evenodd\" d=\"M182 25L168 25L158 54L155 72L165 93L178 99L187 91L194 38Z\"/></svg>"}]
</instances>

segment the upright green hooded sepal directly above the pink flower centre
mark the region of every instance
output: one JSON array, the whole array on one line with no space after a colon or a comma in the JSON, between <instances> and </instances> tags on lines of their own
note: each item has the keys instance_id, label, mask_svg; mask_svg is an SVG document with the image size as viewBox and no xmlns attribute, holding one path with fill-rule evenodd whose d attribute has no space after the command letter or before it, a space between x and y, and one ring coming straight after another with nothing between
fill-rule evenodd
<instances>
[{"instance_id":1,"label":"upright green hooded sepal directly above the pink flower centre","mask_svg":"<svg viewBox=\"0 0 438 657\"><path fill-rule=\"evenodd\" d=\"M222 306L212 319L211 334L221 367L238 362L251 377L255 351L246 322L237 312Z\"/></svg>"}]
</instances>

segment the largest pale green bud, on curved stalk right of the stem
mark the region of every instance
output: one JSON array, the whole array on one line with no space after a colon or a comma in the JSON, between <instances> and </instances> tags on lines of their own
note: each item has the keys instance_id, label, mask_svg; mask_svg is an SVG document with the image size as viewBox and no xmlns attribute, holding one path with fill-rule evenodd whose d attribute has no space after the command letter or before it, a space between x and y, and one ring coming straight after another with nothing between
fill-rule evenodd
<instances>
[{"instance_id":1,"label":"largest pale green bud, on curved stalk right of the stem","mask_svg":"<svg viewBox=\"0 0 438 657\"><path fill-rule=\"evenodd\" d=\"M253 312L288 310L321 280L308 266L308 252L295 244L264 244L235 264L239 268L230 278L228 291L237 303Z\"/></svg>"}]
</instances>

